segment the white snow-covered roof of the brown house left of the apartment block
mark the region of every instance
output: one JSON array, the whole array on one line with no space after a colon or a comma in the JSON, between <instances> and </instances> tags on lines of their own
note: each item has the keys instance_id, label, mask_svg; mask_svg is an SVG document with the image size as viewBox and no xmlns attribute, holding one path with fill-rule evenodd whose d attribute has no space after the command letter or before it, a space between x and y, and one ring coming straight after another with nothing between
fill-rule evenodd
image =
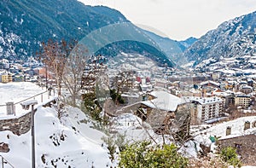
<instances>
[{"instance_id":1,"label":"white snow-covered roof of the brown house left of the apartment block","mask_svg":"<svg viewBox=\"0 0 256 168\"><path fill-rule=\"evenodd\" d=\"M181 98L163 90L152 91L151 95L156 98L152 101L142 101L141 103L148 107L172 112L176 111L177 106L183 103Z\"/></svg>"}]
</instances>

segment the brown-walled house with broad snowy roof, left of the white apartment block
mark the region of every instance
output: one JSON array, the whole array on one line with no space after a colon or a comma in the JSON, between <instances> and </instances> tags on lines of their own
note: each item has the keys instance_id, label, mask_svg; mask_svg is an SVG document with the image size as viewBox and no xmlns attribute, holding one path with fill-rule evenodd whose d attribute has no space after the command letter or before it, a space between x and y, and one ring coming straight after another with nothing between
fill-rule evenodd
<instances>
[{"instance_id":1,"label":"brown-walled house with broad snowy roof, left of the white apartment block","mask_svg":"<svg viewBox=\"0 0 256 168\"><path fill-rule=\"evenodd\" d=\"M135 113L138 117L147 122L156 133L170 133L171 127L179 130L181 125L189 123L188 118L190 111L184 110L187 101L183 98L174 96L167 91L157 90L148 93L147 101L138 101L134 104L122 107L118 113ZM178 116L176 116L178 114ZM175 122L178 120L178 122ZM175 126L176 125L176 126ZM189 130L184 130L188 132Z\"/></svg>"}]
</instances>

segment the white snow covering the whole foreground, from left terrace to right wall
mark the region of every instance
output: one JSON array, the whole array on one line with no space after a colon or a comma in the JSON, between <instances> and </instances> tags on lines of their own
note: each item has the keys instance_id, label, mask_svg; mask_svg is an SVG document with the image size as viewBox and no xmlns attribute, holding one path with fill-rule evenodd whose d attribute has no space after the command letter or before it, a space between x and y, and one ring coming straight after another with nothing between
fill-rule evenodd
<instances>
[{"instance_id":1,"label":"white snow covering the whole foreground, from left terrace to right wall","mask_svg":"<svg viewBox=\"0 0 256 168\"><path fill-rule=\"evenodd\" d=\"M20 101L38 94L42 90L36 84L31 83L3 84L0 85L0 89L0 92L2 91L0 104L4 104L5 101ZM102 137L106 135L102 131L94 129L93 121L78 108L66 107L66 112L66 115L60 120L57 118L55 107L40 107L38 105L38 111L35 114L36 167L104 168L116 166L117 160L111 162L107 145L102 141ZM5 114L2 113L1 118L5 119ZM254 120L256 117L247 117L218 125L201 125L192 128L191 130L197 136L193 142L190 141L185 145L186 148L181 148L180 152L188 157L197 157L197 150L200 149L199 143L212 145L209 136L229 138L255 133L256 128L243 130L245 121L253 122ZM225 136L227 126L232 127L230 136ZM127 142L149 140L150 138L154 138L157 143L163 141L162 136L154 134L149 125L142 124L142 120L131 113L113 118L112 131L125 135ZM16 136L10 131L0 132L0 142L8 143L10 148L9 153L0 153L0 155L15 168L31 167L31 139L31 131L21 136ZM4 167L9 168L10 166L4 165Z\"/></svg>"}]
</instances>

